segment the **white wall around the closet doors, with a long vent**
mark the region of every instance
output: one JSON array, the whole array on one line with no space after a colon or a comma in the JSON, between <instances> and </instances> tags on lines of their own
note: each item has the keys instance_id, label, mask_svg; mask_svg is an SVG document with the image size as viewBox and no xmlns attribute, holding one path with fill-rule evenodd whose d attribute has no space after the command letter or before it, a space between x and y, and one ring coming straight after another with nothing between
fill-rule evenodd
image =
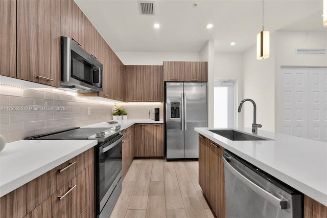
<instances>
[{"instance_id":1,"label":"white wall around the closet doors, with a long vent","mask_svg":"<svg viewBox=\"0 0 327 218\"><path fill-rule=\"evenodd\" d=\"M275 132L280 132L281 66L327 67L326 55L295 55L300 48L327 48L327 29L324 32L277 31L275 38Z\"/></svg>"}]
</instances>

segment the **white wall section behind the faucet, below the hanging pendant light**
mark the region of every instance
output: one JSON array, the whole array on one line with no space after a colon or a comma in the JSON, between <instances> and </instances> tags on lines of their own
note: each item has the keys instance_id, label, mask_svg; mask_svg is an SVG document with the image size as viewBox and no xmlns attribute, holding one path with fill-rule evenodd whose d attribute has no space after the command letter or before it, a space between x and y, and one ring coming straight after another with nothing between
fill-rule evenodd
<instances>
[{"instance_id":1,"label":"white wall section behind the faucet, below the hanging pendant light","mask_svg":"<svg viewBox=\"0 0 327 218\"><path fill-rule=\"evenodd\" d=\"M264 130L275 130L275 55L274 35L270 34L270 57L264 60L256 59L256 46L243 53L243 98L250 98L256 103L256 122L262 124ZM244 127L253 123L253 105L243 104L242 112Z\"/></svg>"}]
</instances>

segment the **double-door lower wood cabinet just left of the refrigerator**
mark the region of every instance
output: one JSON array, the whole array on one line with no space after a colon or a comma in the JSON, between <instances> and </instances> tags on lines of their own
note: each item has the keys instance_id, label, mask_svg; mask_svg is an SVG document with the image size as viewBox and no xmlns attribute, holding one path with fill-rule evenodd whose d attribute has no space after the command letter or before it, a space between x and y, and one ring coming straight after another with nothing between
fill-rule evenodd
<instances>
[{"instance_id":1,"label":"double-door lower wood cabinet just left of the refrigerator","mask_svg":"<svg viewBox=\"0 0 327 218\"><path fill-rule=\"evenodd\" d=\"M135 157L164 156L164 124L135 124Z\"/></svg>"}]
</instances>

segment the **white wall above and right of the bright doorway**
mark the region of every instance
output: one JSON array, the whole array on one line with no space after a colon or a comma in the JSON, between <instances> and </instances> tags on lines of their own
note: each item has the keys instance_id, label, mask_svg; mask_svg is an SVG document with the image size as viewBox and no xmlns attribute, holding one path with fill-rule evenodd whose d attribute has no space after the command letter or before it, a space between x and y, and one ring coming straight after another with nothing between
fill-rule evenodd
<instances>
[{"instance_id":1,"label":"white wall above and right of the bright doorway","mask_svg":"<svg viewBox=\"0 0 327 218\"><path fill-rule=\"evenodd\" d=\"M243 54L215 53L215 79L236 79L236 104L243 99ZM236 112L237 108L235 108ZM243 126L243 120L236 120Z\"/></svg>"}]
</instances>

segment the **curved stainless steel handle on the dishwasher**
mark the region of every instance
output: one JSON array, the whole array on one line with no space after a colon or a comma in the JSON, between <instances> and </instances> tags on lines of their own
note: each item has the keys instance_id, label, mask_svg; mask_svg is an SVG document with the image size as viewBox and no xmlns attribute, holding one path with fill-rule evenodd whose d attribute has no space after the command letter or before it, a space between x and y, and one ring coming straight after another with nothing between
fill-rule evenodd
<instances>
[{"instance_id":1,"label":"curved stainless steel handle on the dishwasher","mask_svg":"<svg viewBox=\"0 0 327 218\"><path fill-rule=\"evenodd\" d=\"M236 170L234 167L232 167L227 160L222 156L224 165L230 170L233 175L241 180L247 187L258 193L261 197L272 203L273 205L283 209L287 209L287 201L283 199L279 199L275 197L273 194L269 193L265 189L261 188L260 186L256 185L253 183L251 180L248 178L244 177L238 170Z\"/></svg>"}]
</instances>

